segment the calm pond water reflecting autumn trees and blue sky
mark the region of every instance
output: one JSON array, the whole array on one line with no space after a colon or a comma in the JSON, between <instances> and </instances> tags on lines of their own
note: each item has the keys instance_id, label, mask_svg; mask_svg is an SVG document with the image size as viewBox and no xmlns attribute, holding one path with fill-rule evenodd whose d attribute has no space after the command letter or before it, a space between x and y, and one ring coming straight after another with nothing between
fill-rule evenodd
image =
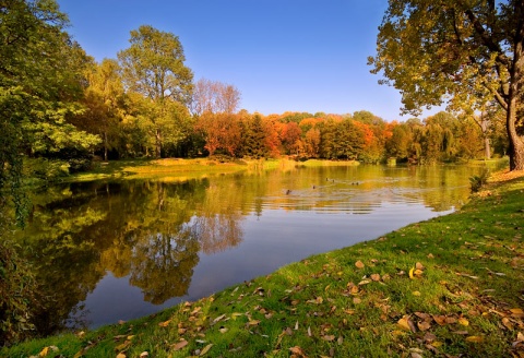
<instances>
[{"instance_id":1,"label":"calm pond water reflecting autumn trees and blue sky","mask_svg":"<svg viewBox=\"0 0 524 358\"><path fill-rule=\"evenodd\" d=\"M480 167L295 167L34 193L43 331L116 323L453 212Z\"/></svg>"}]
</instances>

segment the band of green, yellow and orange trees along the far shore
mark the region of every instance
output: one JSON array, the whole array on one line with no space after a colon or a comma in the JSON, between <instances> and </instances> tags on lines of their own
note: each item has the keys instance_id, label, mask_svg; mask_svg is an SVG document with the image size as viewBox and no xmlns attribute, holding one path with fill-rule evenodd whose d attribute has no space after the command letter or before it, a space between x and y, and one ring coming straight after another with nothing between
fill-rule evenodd
<instances>
[{"instance_id":1,"label":"band of green, yellow and orange trees along the far shore","mask_svg":"<svg viewBox=\"0 0 524 358\"><path fill-rule=\"evenodd\" d=\"M433 163L481 157L489 139L497 154L505 151L496 115L385 122L369 111L249 114L239 110L235 86L193 80L171 33L141 26L117 59L97 63L67 34L53 1L5 1L0 15L3 181L22 172L21 158L31 159L26 175L52 178L90 169L96 158Z\"/></svg>"}]
</instances>

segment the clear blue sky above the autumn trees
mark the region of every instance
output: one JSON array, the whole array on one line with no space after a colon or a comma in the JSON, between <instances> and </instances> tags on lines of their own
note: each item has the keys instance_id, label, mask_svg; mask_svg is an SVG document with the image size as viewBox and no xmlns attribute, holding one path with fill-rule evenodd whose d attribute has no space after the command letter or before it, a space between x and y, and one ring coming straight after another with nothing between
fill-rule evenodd
<instances>
[{"instance_id":1,"label":"clear blue sky above the autumn trees","mask_svg":"<svg viewBox=\"0 0 524 358\"><path fill-rule=\"evenodd\" d=\"M177 35L186 64L235 85L240 107L400 116L401 96L379 85L376 51L386 0L58 0L73 38L97 61L129 47L130 31L152 25Z\"/></svg>"}]
</instances>

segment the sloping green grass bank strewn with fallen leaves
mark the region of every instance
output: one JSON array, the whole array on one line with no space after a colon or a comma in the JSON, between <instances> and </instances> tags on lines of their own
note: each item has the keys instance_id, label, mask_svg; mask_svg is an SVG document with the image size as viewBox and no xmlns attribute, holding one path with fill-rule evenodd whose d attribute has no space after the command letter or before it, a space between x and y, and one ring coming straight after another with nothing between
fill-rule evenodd
<instances>
[{"instance_id":1,"label":"sloping green grass bank strewn with fallen leaves","mask_svg":"<svg viewBox=\"0 0 524 358\"><path fill-rule=\"evenodd\" d=\"M524 178L212 297L0 357L523 357Z\"/></svg>"}]
</instances>

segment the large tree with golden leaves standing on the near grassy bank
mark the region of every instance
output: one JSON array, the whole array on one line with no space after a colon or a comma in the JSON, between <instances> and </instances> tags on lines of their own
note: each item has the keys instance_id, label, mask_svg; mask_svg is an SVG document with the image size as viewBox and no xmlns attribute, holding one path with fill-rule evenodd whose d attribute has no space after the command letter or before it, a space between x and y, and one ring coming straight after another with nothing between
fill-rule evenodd
<instances>
[{"instance_id":1,"label":"large tree with golden leaves standing on the near grassy bank","mask_svg":"<svg viewBox=\"0 0 524 358\"><path fill-rule=\"evenodd\" d=\"M405 111L439 106L505 110L510 169L524 169L524 1L390 0L373 73L401 91Z\"/></svg>"}]
</instances>

